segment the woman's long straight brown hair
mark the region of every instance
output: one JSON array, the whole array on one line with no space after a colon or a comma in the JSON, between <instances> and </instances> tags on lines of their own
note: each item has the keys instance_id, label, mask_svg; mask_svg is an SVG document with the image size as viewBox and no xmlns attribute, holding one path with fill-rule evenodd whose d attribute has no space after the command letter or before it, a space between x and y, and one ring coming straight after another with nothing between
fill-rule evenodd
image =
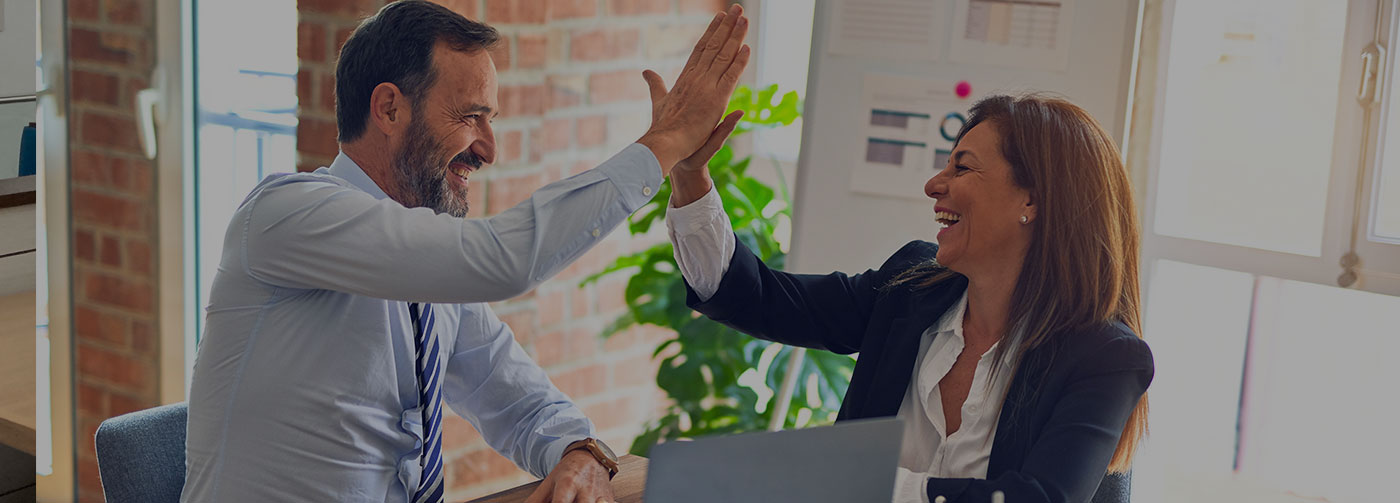
<instances>
[{"instance_id":1,"label":"woman's long straight brown hair","mask_svg":"<svg viewBox=\"0 0 1400 503\"><path fill-rule=\"evenodd\" d=\"M1001 154L1012 181L1036 205L1030 248L1011 294L1007 326L1019 333L1000 345L998 357L1028 350L1057 336L1123 322L1142 336L1138 293L1138 221L1127 170L1113 137L1082 108L1043 95L994 95L973 105L958 133L987 122L1001 136ZM924 263L890 284L932 286L958 273ZM1147 394L1119 437L1110 472L1133 467L1147 434Z\"/></svg>"}]
</instances>

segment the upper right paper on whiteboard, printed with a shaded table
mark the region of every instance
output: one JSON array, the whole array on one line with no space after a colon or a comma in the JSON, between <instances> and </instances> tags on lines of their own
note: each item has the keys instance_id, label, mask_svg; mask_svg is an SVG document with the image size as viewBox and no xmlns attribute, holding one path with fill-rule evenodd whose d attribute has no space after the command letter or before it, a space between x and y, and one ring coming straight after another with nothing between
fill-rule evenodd
<instances>
[{"instance_id":1,"label":"upper right paper on whiteboard, printed with a shaded table","mask_svg":"<svg viewBox=\"0 0 1400 503\"><path fill-rule=\"evenodd\" d=\"M1074 0L953 0L948 59L1064 71Z\"/></svg>"}]
</instances>

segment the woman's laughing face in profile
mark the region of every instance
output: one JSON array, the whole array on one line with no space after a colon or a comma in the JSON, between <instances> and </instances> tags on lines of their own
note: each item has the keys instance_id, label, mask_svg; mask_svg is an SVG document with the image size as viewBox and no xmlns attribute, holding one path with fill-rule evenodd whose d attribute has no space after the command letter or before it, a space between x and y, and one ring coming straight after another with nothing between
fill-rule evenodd
<instances>
[{"instance_id":1,"label":"woman's laughing face in profile","mask_svg":"<svg viewBox=\"0 0 1400 503\"><path fill-rule=\"evenodd\" d=\"M948 165L924 184L924 193L937 199L935 217L944 226L938 231L938 263L969 276L991 268L1021 268L1030 247L1035 206L1001 156L995 123L981 122L963 135Z\"/></svg>"}]
</instances>

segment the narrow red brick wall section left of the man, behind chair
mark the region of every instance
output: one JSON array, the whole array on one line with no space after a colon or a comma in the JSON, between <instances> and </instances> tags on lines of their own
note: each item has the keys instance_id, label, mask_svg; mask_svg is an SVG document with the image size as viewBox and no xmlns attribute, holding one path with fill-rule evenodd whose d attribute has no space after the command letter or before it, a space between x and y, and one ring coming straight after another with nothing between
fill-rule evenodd
<instances>
[{"instance_id":1,"label":"narrow red brick wall section left of the man, behind chair","mask_svg":"<svg viewBox=\"0 0 1400 503\"><path fill-rule=\"evenodd\" d=\"M157 405L154 164L134 95L154 64L154 0L70 0L73 347L77 481L101 502L92 434Z\"/></svg>"}]
</instances>

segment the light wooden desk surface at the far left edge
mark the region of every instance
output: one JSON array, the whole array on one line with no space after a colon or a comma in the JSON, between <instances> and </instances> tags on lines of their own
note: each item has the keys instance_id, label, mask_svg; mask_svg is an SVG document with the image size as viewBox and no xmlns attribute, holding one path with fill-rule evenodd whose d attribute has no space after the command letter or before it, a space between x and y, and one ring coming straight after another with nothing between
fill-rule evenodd
<instances>
[{"instance_id":1,"label":"light wooden desk surface at the far left edge","mask_svg":"<svg viewBox=\"0 0 1400 503\"><path fill-rule=\"evenodd\" d=\"M34 291L0 297L0 443L34 454Z\"/></svg>"}]
</instances>

